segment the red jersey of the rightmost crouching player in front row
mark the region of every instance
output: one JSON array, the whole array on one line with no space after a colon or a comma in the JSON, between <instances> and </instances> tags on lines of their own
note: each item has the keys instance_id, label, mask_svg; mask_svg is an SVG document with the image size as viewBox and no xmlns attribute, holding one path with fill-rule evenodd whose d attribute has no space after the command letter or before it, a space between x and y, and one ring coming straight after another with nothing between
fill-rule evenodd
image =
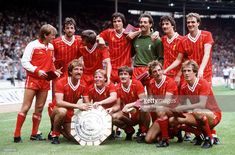
<instances>
[{"instance_id":1,"label":"red jersey of the rightmost crouching player in front row","mask_svg":"<svg viewBox=\"0 0 235 155\"><path fill-rule=\"evenodd\" d=\"M191 104L198 103L200 95L207 96L206 108L213 112L220 112L220 108L215 100L212 88L205 79L197 78L192 87L188 84L184 84L181 87L180 95L188 98Z\"/></svg>"}]
</instances>

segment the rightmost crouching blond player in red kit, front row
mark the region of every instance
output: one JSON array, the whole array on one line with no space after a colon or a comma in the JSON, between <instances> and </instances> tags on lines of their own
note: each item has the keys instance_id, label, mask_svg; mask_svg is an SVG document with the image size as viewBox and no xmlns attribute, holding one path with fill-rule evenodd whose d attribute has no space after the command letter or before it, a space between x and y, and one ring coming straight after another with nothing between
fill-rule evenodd
<instances>
[{"instance_id":1,"label":"rightmost crouching blond player in red kit, front row","mask_svg":"<svg viewBox=\"0 0 235 155\"><path fill-rule=\"evenodd\" d=\"M186 112L185 118L172 119L171 122L179 123L181 126L196 135L196 145L201 145L203 140L200 134L205 137L202 148L213 146L212 129L221 120L221 110L215 100L210 84L203 78L197 78L198 65L193 60L182 64L182 72L186 83L181 86L181 102L188 99L191 104L178 105L176 112ZM175 117L174 117L175 118Z\"/></svg>"}]
</instances>

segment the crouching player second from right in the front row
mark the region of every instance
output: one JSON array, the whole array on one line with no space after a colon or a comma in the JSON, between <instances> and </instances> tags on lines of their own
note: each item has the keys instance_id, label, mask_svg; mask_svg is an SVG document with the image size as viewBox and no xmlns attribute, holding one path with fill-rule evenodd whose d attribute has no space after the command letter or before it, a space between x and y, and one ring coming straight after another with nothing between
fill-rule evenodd
<instances>
[{"instance_id":1,"label":"crouching player second from right in the front row","mask_svg":"<svg viewBox=\"0 0 235 155\"><path fill-rule=\"evenodd\" d=\"M149 100L154 99L154 104L144 105L143 108L151 110L152 126L145 137L147 143L153 142L157 138L158 130L161 130L161 140L157 147L167 147L169 145L169 117L172 116L170 108L177 104L178 88L176 82L163 75L162 64L157 60L149 63L149 73L153 78L149 85ZM149 108L148 108L149 107Z\"/></svg>"}]
</instances>

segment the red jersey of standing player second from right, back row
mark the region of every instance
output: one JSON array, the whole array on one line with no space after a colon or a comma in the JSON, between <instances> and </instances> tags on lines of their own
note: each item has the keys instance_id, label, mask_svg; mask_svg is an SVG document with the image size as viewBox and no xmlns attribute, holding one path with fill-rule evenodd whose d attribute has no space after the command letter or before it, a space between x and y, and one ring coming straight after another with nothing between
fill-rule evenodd
<instances>
[{"instance_id":1,"label":"red jersey of standing player second from right, back row","mask_svg":"<svg viewBox=\"0 0 235 155\"><path fill-rule=\"evenodd\" d=\"M169 67L175 61L179 53L183 53L182 39L183 37L177 32L175 32L171 39L169 39L167 35L162 37L162 44L164 47L164 69ZM180 69L181 65L170 70L167 75L173 78L177 75Z\"/></svg>"}]
</instances>

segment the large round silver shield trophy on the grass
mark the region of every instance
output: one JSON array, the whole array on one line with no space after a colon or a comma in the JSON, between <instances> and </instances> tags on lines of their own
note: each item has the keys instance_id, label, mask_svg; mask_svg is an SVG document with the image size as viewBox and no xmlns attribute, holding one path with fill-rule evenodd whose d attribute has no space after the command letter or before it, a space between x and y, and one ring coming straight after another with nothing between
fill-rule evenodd
<instances>
[{"instance_id":1,"label":"large round silver shield trophy on the grass","mask_svg":"<svg viewBox=\"0 0 235 155\"><path fill-rule=\"evenodd\" d=\"M80 145L100 145L111 132L112 118L102 106L72 117L71 135Z\"/></svg>"}]
</instances>

